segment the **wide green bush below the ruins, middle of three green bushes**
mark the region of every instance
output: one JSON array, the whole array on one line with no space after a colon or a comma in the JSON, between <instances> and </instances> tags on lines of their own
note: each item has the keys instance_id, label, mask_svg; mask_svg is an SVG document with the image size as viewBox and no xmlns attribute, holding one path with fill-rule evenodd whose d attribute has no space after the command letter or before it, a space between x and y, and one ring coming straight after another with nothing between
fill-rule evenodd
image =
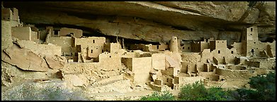
<instances>
[{"instance_id":1,"label":"wide green bush below the ruins, middle of three green bushes","mask_svg":"<svg viewBox=\"0 0 277 102\"><path fill-rule=\"evenodd\" d=\"M227 92L220 87L206 89L203 81L181 87L179 99L184 101L225 101Z\"/></svg>"}]
</instances>

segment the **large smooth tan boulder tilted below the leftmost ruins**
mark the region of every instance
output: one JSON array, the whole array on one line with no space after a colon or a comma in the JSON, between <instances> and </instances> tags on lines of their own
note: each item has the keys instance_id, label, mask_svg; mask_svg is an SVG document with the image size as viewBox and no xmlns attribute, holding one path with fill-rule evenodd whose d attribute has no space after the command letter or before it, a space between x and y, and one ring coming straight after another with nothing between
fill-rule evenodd
<instances>
[{"instance_id":1,"label":"large smooth tan boulder tilted below the leftmost ruins","mask_svg":"<svg viewBox=\"0 0 277 102\"><path fill-rule=\"evenodd\" d=\"M47 72L45 60L26 48L13 45L1 52L1 60L23 70Z\"/></svg>"}]
</instances>

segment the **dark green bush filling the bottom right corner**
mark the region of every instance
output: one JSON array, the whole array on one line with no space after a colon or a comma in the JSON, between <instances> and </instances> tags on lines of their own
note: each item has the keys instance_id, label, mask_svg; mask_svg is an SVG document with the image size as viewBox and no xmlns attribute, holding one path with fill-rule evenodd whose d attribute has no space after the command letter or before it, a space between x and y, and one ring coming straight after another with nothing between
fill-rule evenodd
<instances>
[{"instance_id":1,"label":"dark green bush filling the bottom right corner","mask_svg":"<svg viewBox=\"0 0 277 102\"><path fill-rule=\"evenodd\" d=\"M275 101L276 100L276 74L270 72L264 75L251 77L249 84L255 89L237 89L230 91L230 96L239 101ZM237 93L237 94L234 94Z\"/></svg>"}]
</instances>

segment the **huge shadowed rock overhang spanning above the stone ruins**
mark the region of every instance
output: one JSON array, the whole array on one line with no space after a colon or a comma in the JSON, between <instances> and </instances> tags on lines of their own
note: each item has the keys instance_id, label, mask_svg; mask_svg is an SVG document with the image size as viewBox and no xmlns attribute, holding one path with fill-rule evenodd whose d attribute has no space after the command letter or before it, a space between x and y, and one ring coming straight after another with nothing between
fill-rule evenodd
<instances>
[{"instance_id":1,"label":"huge shadowed rock overhang spanning above the stone ruins","mask_svg":"<svg viewBox=\"0 0 277 102\"><path fill-rule=\"evenodd\" d=\"M275 38L276 2L270 1L4 2L4 6L18 8L24 23L60 24L150 42L169 42L171 35L232 42L240 39L237 33L242 28L254 25L264 30L259 32L261 41Z\"/></svg>"}]
</instances>

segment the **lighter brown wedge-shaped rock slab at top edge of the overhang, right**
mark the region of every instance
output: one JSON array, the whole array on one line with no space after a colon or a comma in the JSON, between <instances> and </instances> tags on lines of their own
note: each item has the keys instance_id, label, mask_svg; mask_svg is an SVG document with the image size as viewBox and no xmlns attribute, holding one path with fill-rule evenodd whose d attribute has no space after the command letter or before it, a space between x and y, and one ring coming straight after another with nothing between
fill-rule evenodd
<instances>
[{"instance_id":1,"label":"lighter brown wedge-shaped rock slab at top edge of the overhang, right","mask_svg":"<svg viewBox=\"0 0 277 102\"><path fill-rule=\"evenodd\" d=\"M199 13L203 16L220 18L226 21L239 21L245 11L247 11L247 2L222 2L222 1L155 1L157 4L178 8L184 11Z\"/></svg>"}]
</instances>

